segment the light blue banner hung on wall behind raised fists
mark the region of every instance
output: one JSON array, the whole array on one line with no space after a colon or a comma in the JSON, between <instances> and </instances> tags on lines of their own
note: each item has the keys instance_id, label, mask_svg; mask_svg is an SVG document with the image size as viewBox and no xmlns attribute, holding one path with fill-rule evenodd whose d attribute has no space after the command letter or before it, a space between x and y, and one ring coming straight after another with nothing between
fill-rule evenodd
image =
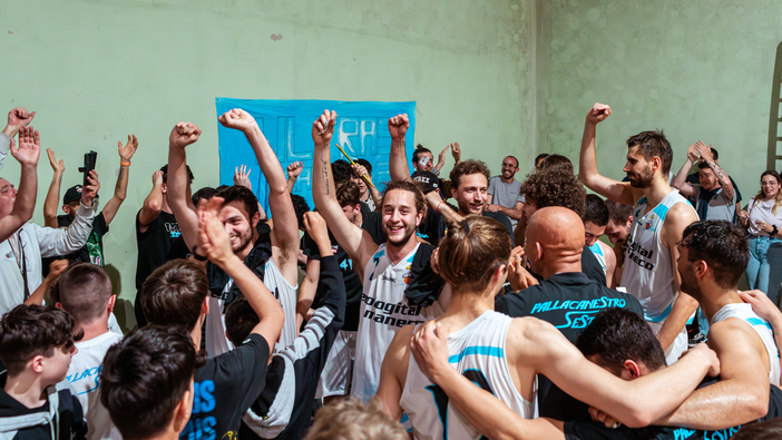
<instances>
[{"instance_id":1,"label":"light blue banner hung on wall behind raised fists","mask_svg":"<svg viewBox=\"0 0 782 440\"><path fill-rule=\"evenodd\" d=\"M388 120L399 114L408 114L410 129L404 137L408 163L412 160L413 136L416 131L416 101L378 102L378 101L329 101L329 100L274 100L274 99L232 99L216 98L217 116L242 108L250 113L258 123L258 127L268 139L276 153L283 170L294 162L304 165L302 174L296 179L293 194L306 199L310 208L312 202L312 123L324 109L336 111L336 127L332 138L331 160L344 159L342 153L333 144L339 144L354 160L364 158L372 164L372 182L382 190L382 183L391 179L389 175L389 153L391 136ZM232 130L218 124L219 140L219 183L233 185L234 170L237 166L247 165L252 169L250 179L253 193L268 213L268 186L261 173L255 154L244 134ZM285 172L287 175L287 172Z\"/></svg>"}]
</instances>

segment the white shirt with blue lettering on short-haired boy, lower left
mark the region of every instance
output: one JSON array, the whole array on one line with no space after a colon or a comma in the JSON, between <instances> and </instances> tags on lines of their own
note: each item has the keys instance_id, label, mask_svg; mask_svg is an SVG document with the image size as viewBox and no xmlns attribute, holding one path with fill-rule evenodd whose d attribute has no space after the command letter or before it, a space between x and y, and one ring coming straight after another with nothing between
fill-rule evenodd
<instances>
[{"instance_id":1,"label":"white shirt with blue lettering on short-haired boy, lower left","mask_svg":"<svg viewBox=\"0 0 782 440\"><path fill-rule=\"evenodd\" d=\"M66 379L74 387L74 394L79 399L87 420L87 438L121 439L117 428L111 423L108 410L100 403L100 373L104 370L104 358L109 346L121 341L123 335L106 332L89 341L77 342L79 351L70 360Z\"/></svg>"}]
</instances>

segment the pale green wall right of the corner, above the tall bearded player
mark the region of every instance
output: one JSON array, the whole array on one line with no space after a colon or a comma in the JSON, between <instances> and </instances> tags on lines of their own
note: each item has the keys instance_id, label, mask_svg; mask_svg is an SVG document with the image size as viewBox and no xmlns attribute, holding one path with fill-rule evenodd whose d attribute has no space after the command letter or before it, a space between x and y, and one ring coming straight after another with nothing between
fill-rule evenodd
<instances>
[{"instance_id":1,"label":"pale green wall right of the corner, above the tall bearded player","mask_svg":"<svg viewBox=\"0 0 782 440\"><path fill-rule=\"evenodd\" d=\"M779 1L538 1L538 148L576 158L594 102L600 172L624 177L626 139L662 128L676 173L697 139L745 201L765 170Z\"/></svg>"}]
</instances>

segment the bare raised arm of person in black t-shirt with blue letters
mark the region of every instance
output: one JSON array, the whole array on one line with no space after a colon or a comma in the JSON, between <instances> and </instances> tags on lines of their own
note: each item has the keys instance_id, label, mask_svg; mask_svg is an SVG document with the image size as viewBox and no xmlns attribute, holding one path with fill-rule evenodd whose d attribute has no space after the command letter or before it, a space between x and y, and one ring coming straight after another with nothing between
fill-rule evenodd
<instances>
[{"instance_id":1,"label":"bare raised arm of person in black t-shirt with blue letters","mask_svg":"<svg viewBox=\"0 0 782 440\"><path fill-rule=\"evenodd\" d=\"M222 206L223 199L219 197L213 197L208 203L201 201L197 214L198 252L204 253L212 263L225 271L236 283L261 320L251 333L260 334L266 340L270 348L274 348L280 338L285 315L282 306L263 284L263 281L245 266L231 248L228 234L225 232L223 223L217 218Z\"/></svg>"}]
</instances>

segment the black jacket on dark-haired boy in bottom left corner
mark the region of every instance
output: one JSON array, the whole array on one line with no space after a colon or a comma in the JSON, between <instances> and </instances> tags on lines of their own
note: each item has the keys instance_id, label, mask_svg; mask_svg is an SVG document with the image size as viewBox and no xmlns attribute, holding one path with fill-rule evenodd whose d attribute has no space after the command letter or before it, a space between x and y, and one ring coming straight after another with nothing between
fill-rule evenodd
<instances>
[{"instance_id":1,"label":"black jacket on dark-haired boy in bottom left corner","mask_svg":"<svg viewBox=\"0 0 782 440\"><path fill-rule=\"evenodd\" d=\"M27 408L21 404L18 400L8 395L3 390L6 387L7 374L0 374L0 424L2 424L2 419L7 417L35 414L39 412L49 413L49 400L46 401L41 407L38 408ZM85 421L84 411L81 409L81 403L72 395L68 390L61 390L57 392L59 404L58 404L58 420L60 429L60 438L62 439L84 439L87 436L87 422ZM66 399L68 401L66 401ZM66 432L66 430L68 432ZM6 437L3 437L4 439ZM38 424L31 428L23 428L13 436L13 439L23 440L52 440L51 431L48 423Z\"/></svg>"}]
</instances>

